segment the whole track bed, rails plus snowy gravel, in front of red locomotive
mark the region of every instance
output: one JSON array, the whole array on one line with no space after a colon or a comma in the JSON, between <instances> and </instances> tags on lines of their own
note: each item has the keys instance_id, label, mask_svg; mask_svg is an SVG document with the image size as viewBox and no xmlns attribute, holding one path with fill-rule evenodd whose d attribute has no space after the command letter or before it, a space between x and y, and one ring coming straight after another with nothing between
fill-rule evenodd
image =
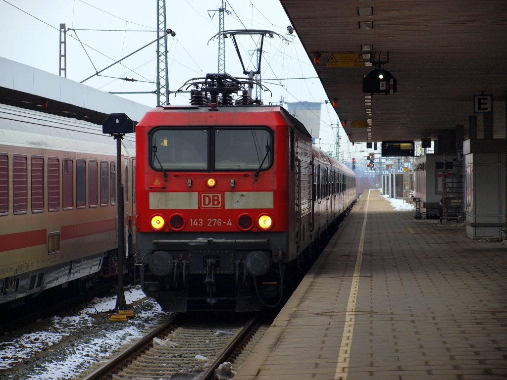
<instances>
[{"instance_id":1,"label":"whole track bed, rails plus snowy gravel, in front of red locomotive","mask_svg":"<svg viewBox=\"0 0 507 380\"><path fill-rule=\"evenodd\" d=\"M0 380L209 379L229 362L221 367L226 379L269 327L235 313L175 316L138 289L128 294L135 313L128 322L109 320L115 298L106 297L11 325L0 339Z\"/></svg>"}]
</instances>

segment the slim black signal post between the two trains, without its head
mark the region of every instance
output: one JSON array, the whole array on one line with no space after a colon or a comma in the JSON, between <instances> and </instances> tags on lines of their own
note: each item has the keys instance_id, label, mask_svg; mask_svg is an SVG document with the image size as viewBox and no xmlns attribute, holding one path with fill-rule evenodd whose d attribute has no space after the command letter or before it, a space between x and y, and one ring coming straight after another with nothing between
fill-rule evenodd
<instances>
[{"instance_id":1,"label":"slim black signal post between the two trains, without its head","mask_svg":"<svg viewBox=\"0 0 507 380\"><path fill-rule=\"evenodd\" d=\"M123 292L123 257L125 255L125 202L123 200L122 184L122 138L124 134L113 135L116 140L116 167L117 170L117 194L118 194L118 297L116 298L116 309L127 309L125 293Z\"/></svg>"}]
</instances>

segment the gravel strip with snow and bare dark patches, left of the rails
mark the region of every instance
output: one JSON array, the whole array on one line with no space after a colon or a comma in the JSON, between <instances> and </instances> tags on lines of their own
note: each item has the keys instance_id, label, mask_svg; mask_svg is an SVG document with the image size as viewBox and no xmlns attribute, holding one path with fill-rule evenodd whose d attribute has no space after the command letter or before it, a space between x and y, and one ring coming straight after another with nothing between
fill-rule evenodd
<instances>
[{"instance_id":1,"label":"gravel strip with snow and bare dark patches, left of the rails","mask_svg":"<svg viewBox=\"0 0 507 380\"><path fill-rule=\"evenodd\" d=\"M0 380L74 379L125 341L142 337L168 319L141 294L135 289L127 292L136 313L128 323L109 320L116 297L105 297L52 317L4 324L8 329L0 334Z\"/></svg>"}]
</instances>

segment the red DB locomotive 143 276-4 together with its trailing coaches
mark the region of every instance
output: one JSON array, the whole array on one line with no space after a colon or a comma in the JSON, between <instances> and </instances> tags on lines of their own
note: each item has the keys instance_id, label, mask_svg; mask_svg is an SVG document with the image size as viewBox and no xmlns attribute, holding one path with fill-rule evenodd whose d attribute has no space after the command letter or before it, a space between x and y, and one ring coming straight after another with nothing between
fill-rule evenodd
<instances>
[{"instance_id":1,"label":"red DB locomotive 143 276-4 together with its trailing coaches","mask_svg":"<svg viewBox=\"0 0 507 380\"><path fill-rule=\"evenodd\" d=\"M251 84L208 74L136 126L141 284L166 311L278 305L356 200L354 173Z\"/></svg>"}]
</instances>

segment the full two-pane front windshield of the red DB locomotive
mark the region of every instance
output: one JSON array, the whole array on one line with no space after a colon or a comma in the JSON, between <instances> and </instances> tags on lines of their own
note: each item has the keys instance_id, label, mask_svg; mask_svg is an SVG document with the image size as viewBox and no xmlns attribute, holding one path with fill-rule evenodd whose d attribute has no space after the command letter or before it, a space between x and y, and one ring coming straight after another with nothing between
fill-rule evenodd
<instances>
[{"instance_id":1,"label":"full two-pane front windshield of the red DB locomotive","mask_svg":"<svg viewBox=\"0 0 507 380\"><path fill-rule=\"evenodd\" d=\"M257 171L273 161L265 128L157 129L151 140L151 164L159 170Z\"/></svg>"}]
</instances>

